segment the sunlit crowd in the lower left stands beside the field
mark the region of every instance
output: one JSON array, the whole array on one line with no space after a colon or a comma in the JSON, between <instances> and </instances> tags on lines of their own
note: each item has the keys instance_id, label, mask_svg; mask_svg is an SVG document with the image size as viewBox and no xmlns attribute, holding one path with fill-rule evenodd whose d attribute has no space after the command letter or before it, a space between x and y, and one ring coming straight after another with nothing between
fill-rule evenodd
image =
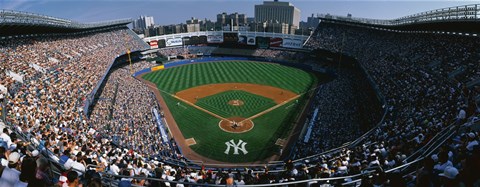
<instances>
[{"instance_id":1,"label":"sunlit crowd in the lower left stands beside the field","mask_svg":"<svg viewBox=\"0 0 480 187\"><path fill-rule=\"evenodd\" d=\"M146 158L158 155L179 158L178 150L161 139L152 113L153 108L159 108L155 95L140 80L130 76L130 72L151 66L140 61L112 70L90 120L92 124L108 126L102 134L117 137L115 143L119 147L142 152Z\"/></svg>"}]
</instances>

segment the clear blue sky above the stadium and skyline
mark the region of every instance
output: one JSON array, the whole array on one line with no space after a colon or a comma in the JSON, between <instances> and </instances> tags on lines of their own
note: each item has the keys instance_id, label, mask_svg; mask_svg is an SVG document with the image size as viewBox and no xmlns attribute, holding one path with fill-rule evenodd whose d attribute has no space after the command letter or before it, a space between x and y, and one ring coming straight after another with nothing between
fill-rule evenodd
<instances>
[{"instance_id":1,"label":"clear blue sky above the stadium and skyline","mask_svg":"<svg viewBox=\"0 0 480 187\"><path fill-rule=\"evenodd\" d=\"M286 1L286 0L280 0ZM301 20L313 14L394 19L423 11L476 4L480 1L438 0L290 0L301 11ZM254 6L262 0L0 0L0 9L40 13L80 22L153 16L155 24L185 23L191 17L215 20L222 12L254 16Z\"/></svg>"}]
</instances>

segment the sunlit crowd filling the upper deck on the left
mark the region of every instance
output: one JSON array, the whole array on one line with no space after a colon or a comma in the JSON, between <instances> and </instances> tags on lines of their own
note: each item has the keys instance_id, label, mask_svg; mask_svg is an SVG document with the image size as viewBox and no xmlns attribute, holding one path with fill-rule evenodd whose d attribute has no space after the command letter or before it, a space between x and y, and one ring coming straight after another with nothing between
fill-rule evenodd
<instances>
[{"instance_id":1,"label":"sunlit crowd filling the upper deck on the left","mask_svg":"<svg viewBox=\"0 0 480 187\"><path fill-rule=\"evenodd\" d=\"M18 79L6 74L1 79L9 91L6 122L14 124L10 132L21 132L38 149L33 151L36 155L48 152L50 159L67 169L83 172L88 164L105 163L105 154L114 149L109 144L111 140L100 134L105 126L91 123L84 116L84 99L116 56L126 52L126 47L138 50L145 46L135 37L127 29L113 29L1 40L2 72L13 72ZM15 85L20 86L14 89ZM3 132L6 159L17 162L18 158L12 154L28 155L28 151L20 149L22 142L14 133L7 128ZM48 169L49 165L45 165L47 161L37 160L36 179L49 176L41 173ZM15 183L15 178L12 181ZM49 181L47 185L51 184Z\"/></svg>"}]
</instances>

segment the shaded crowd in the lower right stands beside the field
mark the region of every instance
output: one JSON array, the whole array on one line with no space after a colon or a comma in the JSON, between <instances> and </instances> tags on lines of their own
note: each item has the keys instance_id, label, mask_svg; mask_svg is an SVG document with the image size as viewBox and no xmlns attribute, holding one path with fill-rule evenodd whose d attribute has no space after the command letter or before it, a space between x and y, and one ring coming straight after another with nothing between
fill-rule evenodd
<instances>
[{"instance_id":1,"label":"shaded crowd in the lower right stands beside the field","mask_svg":"<svg viewBox=\"0 0 480 187\"><path fill-rule=\"evenodd\" d=\"M336 78L319 86L313 99L318 114L316 119L309 117L311 132L299 138L293 159L353 141L378 123L381 106L368 80L359 71L344 68L337 72Z\"/></svg>"}]
</instances>

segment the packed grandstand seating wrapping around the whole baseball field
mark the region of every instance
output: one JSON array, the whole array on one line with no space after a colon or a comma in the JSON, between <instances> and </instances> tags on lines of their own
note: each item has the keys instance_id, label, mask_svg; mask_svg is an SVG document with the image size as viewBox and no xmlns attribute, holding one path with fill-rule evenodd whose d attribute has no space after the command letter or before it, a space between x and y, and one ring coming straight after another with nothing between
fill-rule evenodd
<instances>
[{"instance_id":1,"label":"packed grandstand seating wrapping around the whole baseball field","mask_svg":"<svg viewBox=\"0 0 480 187\"><path fill-rule=\"evenodd\" d=\"M75 174L86 186L475 186L479 16L479 5L394 20L323 15L308 39L245 33L257 43L220 45L206 37L217 33L197 32L186 35L205 41L156 46L175 56L165 64L242 56L329 75L280 160L234 167L183 155L166 109L133 74L154 66L141 53L151 41L177 36L142 41L130 19L84 24L2 10L1 162L13 169L21 155L21 172L35 167L37 176L17 182L41 186ZM304 45L258 43L267 38Z\"/></svg>"}]
</instances>

